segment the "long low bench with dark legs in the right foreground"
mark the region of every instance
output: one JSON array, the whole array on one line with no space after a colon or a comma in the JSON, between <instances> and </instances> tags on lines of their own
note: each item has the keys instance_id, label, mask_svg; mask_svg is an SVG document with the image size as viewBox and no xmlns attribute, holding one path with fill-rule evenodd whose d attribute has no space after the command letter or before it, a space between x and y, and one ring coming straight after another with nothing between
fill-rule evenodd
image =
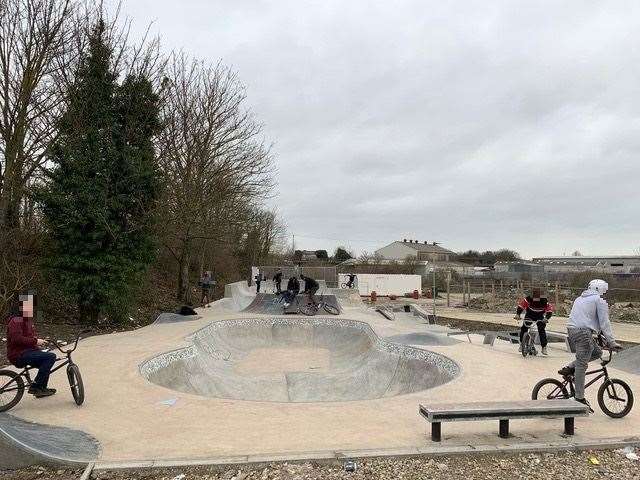
<instances>
[{"instance_id":1,"label":"long low bench with dark legs in the right foreground","mask_svg":"<svg viewBox=\"0 0 640 480\"><path fill-rule=\"evenodd\" d=\"M420 405L420 415L431 423L431 440L441 440L442 422L464 422L472 420L499 420L499 435L509 436L509 420L540 417L564 418L564 433L573 435L574 418L585 417L589 408L572 399L567 400L524 400L518 402L473 402L440 403Z\"/></svg>"}]
</instances>

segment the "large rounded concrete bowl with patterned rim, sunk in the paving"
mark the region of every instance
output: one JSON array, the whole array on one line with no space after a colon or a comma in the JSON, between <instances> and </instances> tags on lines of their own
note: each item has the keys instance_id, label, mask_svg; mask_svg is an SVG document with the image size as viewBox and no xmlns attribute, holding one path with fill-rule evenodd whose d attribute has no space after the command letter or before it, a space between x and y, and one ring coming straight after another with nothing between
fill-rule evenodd
<instances>
[{"instance_id":1,"label":"large rounded concrete bowl with patterned rim, sunk in the paving","mask_svg":"<svg viewBox=\"0 0 640 480\"><path fill-rule=\"evenodd\" d=\"M452 380L451 359L380 340L364 322L333 318L221 320L186 348L140 366L180 392L262 402L340 402L419 392Z\"/></svg>"}]
</instances>

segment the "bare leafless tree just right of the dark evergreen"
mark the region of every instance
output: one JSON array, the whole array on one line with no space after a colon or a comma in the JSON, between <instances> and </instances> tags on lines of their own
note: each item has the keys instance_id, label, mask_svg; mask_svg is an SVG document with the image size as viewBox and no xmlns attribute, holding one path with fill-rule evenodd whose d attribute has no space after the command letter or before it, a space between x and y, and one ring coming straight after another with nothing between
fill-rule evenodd
<instances>
[{"instance_id":1,"label":"bare leafless tree just right of the dark evergreen","mask_svg":"<svg viewBox=\"0 0 640 480\"><path fill-rule=\"evenodd\" d=\"M188 301L197 244L215 249L238 241L271 192L273 169L234 72L178 54L163 86L164 244L179 266L178 299Z\"/></svg>"}]
</instances>

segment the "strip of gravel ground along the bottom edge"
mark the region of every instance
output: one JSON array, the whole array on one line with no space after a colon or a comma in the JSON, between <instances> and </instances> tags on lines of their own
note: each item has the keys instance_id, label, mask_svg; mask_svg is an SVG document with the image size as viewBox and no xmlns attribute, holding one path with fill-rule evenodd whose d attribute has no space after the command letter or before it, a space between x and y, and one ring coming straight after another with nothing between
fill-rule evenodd
<instances>
[{"instance_id":1,"label":"strip of gravel ground along the bottom edge","mask_svg":"<svg viewBox=\"0 0 640 480\"><path fill-rule=\"evenodd\" d=\"M356 461L356 471L342 464L273 464L268 467L216 467L98 471L96 480L487 480L487 479L640 479L640 461L620 451L467 455ZM80 478L82 471L30 468L0 471L2 480Z\"/></svg>"}]
</instances>

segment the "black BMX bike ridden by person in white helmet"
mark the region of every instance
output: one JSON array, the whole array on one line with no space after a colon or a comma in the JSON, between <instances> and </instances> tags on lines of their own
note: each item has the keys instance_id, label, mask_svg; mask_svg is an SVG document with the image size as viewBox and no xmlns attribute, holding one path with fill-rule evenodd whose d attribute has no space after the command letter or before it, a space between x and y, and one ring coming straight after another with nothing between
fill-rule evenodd
<instances>
[{"instance_id":1,"label":"black BMX bike ridden by person in white helmet","mask_svg":"<svg viewBox=\"0 0 640 480\"><path fill-rule=\"evenodd\" d=\"M613 358L614 350L604 346L604 339L600 335L596 341L603 350L609 352L609 357L601 359L601 368L586 372L587 377L595 375L595 378L585 384L585 390L598 380L604 379L598 388L600 409L611 418L625 417L633 408L633 391L623 380L609 376L607 365ZM573 374L564 375L561 381L555 378L545 378L533 387L531 398L533 400L574 398L576 395L574 381Z\"/></svg>"}]
</instances>

